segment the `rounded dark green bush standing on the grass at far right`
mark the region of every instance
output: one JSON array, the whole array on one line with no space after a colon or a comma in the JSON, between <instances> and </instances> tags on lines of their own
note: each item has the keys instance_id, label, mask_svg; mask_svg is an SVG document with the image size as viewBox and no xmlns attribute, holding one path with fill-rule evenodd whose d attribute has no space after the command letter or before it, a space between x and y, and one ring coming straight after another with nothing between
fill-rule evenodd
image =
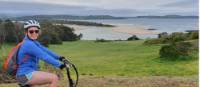
<instances>
[{"instance_id":1,"label":"rounded dark green bush standing on the grass at far right","mask_svg":"<svg viewBox=\"0 0 200 87\"><path fill-rule=\"evenodd\" d=\"M191 44L189 42L178 42L176 44L165 45L160 49L160 58L176 60L189 56Z\"/></svg>"}]
</instances>

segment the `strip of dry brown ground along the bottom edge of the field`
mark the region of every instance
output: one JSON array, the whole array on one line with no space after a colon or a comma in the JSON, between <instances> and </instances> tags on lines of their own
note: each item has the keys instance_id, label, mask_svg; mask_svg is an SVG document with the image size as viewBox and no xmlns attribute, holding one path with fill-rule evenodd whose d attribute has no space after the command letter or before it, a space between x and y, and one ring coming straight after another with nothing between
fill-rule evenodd
<instances>
[{"instance_id":1,"label":"strip of dry brown ground along the bottom edge of the field","mask_svg":"<svg viewBox=\"0 0 200 87\"><path fill-rule=\"evenodd\" d=\"M68 87L61 80L59 87ZM0 87L18 87L17 84L0 84ZM41 86L41 87L48 87ZM198 77L81 77L78 87L198 87Z\"/></svg>"}]
</instances>

